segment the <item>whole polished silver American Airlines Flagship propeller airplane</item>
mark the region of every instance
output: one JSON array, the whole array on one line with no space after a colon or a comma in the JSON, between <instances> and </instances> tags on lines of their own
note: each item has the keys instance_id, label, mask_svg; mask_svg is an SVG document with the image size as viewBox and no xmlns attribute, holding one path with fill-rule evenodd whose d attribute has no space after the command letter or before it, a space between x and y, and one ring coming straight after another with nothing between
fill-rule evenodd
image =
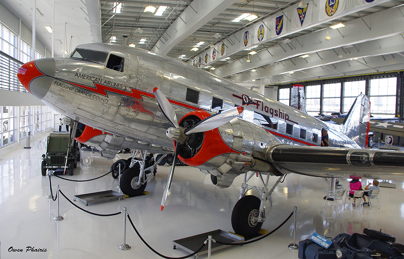
<instances>
[{"instance_id":1,"label":"whole polished silver American Airlines Flagship propeller airplane","mask_svg":"<svg viewBox=\"0 0 404 259\"><path fill-rule=\"evenodd\" d=\"M404 152L365 149L370 102L363 94L342 125L328 124L170 57L101 43L80 45L68 58L28 62L18 78L31 94L75 121L76 140L97 147L105 158L125 148L144 150L143 157L147 150L174 151L174 160L209 173L220 188L244 174L231 216L240 235L258 232L272 208L272 191L288 173L404 179ZM322 129L331 147L321 146ZM140 164L132 160L121 177L129 196L146 188L145 161ZM255 174L262 187L248 184ZM271 189L270 175L278 177ZM246 195L252 188L259 197Z\"/></svg>"}]
</instances>

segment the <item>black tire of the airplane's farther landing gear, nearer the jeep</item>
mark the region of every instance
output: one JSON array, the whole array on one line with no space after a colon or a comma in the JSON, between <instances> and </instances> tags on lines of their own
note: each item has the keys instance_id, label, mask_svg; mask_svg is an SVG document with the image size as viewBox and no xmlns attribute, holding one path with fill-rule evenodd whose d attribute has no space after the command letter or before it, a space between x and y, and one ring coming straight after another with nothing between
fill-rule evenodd
<instances>
[{"instance_id":1,"label":"black tire of the airplane's farther landing gear, nearer the jeep","mask_svg":"<svg viewBox=\"0 0 404 259\"><path fill-rule=\"evenodd\" d=\"M129 197L139 196L145 190L147 182L144 185L138 185L140 168L133 166L127 168L121 175L119 186L123 193Z\"/></svg>"}]
</instances>

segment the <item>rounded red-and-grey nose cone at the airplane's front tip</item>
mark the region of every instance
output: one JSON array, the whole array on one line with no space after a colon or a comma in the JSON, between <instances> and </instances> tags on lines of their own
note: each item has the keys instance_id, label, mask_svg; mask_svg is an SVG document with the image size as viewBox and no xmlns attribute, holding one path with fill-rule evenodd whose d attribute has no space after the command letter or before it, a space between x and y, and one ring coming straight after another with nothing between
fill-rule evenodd
<instances>
[{"instance_id":1,"label":"rounded red-and-grey nose cone at the airplane's front tip","mask_svg":"<svg viewBox=\"0 0 404 259\"><path fill-rule=\"evenodd\" d=\"M52 58L30 61L18 69L17 76L26 90L42 99L55 76L55 61Z\"/></svg>"}]
</instances>

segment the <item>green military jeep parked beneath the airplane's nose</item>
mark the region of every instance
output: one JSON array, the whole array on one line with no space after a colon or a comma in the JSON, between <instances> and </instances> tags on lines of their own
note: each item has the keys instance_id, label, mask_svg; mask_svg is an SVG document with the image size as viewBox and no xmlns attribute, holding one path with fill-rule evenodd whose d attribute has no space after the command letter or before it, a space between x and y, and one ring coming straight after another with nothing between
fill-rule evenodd
<instances>
[{"instance_id":1,"label":"green military jeep parked beneath the airplane's nose","mask_svg":"<svg viewBox=\"0 0 404 259\"><path fill-rule=\"evenodd\" d=\"M69 148L69 140L69 133L49 134L46 154L42 155L42 175L46 175L46 170L56 171L57 169L64 169L65 165L69 174L73 175L73 170L77 167L77 162L80 161L80 148L76 140L74 140L74 143Z\"/></svg>"}]
</instances>

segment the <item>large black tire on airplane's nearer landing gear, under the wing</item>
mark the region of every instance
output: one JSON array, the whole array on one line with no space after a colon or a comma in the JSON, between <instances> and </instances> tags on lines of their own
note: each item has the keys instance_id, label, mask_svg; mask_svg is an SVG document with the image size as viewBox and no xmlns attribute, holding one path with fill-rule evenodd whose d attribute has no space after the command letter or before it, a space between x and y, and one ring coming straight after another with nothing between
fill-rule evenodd
<instances>
[{"instance_id":1,"label":"large black tire on airplane's nearer landing gear, under the wing","mask_svg":"<svg viewBox=\"0 0 404 259\"><path fill-rule=\"evenodd\" d=\"M244 237L252 236L261 229L262 222L257 222L260 200L247 195L242 197L233 208L231 213L231 226L236 234Z\"/></svg>"}]
</instances>

